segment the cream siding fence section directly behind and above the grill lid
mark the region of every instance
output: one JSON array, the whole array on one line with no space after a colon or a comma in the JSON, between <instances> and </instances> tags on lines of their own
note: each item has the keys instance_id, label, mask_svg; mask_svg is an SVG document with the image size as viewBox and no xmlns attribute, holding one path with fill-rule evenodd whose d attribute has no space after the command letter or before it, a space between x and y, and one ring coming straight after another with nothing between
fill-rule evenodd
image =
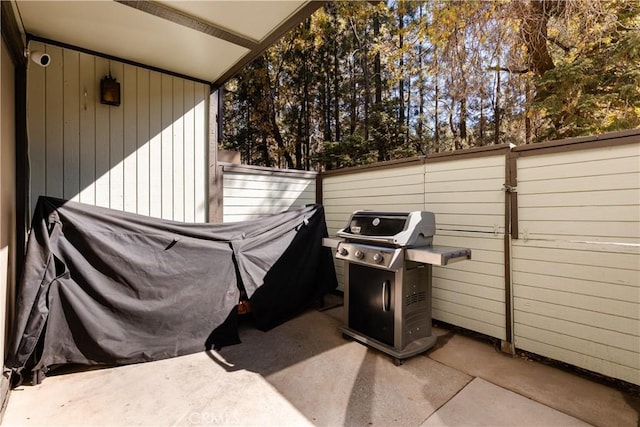
<instances>
[{"instance_id":1,"label":"cream siding fence section directly behind and above the grill lid","mask_svg":"<svg viewBox=\"0 0 640 427\"><path fill-rule=\"evenodd\" d=\"M355 210L420 211L424 207L424 165L327 176L322 181L322 198L330 237L347 225ZM339 289L344 289L344 262L335 260L335 265Z\"/></svg>"}]
</instances>

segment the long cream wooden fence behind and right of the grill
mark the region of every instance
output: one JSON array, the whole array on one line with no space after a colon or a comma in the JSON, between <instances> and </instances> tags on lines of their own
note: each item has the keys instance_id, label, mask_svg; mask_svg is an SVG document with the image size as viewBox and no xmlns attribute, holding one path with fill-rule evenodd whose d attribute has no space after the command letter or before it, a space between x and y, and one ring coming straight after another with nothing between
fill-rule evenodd
<instances>
[{"instance_id":1,"label":"long cream wooden fence behind and right of the grill","mask_svg":"<svg viewBox=\"0 0 640 427\"><path fill-rule=\"evenodd\" d=\"M434 319L640 384L640 130L327 172L322 195L331 235L427 210L472 249L434 268Z\"/></svg>"}]
</instances>

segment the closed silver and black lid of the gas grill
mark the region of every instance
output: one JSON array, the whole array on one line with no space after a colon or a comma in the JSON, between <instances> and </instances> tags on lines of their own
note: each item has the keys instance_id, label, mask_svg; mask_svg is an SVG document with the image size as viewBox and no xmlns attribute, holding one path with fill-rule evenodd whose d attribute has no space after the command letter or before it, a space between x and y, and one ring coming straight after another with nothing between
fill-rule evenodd
<instances>
[{"instance_id":1,"label":"closed silver and black lid of the gas grill","mask_svg":"<svg viewBox=\"0 0 640 427\"><path fill-rule=\"evenodd\" d=\"M337 235L350 241L393 246L430 246L435 234L432 212L355 211Z\"/></svg>"}]
</instances>

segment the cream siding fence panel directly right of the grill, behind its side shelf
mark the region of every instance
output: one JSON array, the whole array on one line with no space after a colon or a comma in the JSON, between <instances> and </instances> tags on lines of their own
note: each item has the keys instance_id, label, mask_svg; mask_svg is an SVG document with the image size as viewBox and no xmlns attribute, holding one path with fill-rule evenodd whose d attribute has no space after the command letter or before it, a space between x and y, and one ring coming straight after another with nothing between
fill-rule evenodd
<instances>
[{"instance_id":1,"label":"cream siding fence panel directly right of the grill, behind its side shelf","mask_svg":"<svg viewBox=\"0 0 640 427\"><path fill-rule=\"evenodd\" d=\"M426 164L424 210L434 244L471 248L472 260L433 268L433 318L506 339L504 154Z\"/></svg>"}]
</instances>

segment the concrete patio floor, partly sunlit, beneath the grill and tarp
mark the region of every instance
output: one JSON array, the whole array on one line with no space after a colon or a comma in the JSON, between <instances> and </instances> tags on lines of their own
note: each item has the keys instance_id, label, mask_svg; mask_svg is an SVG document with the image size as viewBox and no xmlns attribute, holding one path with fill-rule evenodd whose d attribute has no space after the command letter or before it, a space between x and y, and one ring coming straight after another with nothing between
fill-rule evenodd
<instances>
[{"instance_id":1,"label":"concrete patio floor, partly sunlit, beneath the grill and tarp","mask_svg":"<svg viewBox=\"0 0 640 427\"><path fill-rule=\"evenodd\" d=\"M640 398L435 328L395 366L310 310L220 352L45 378L13 390L3 425L633 426Z\"/></svg>"}]
</instances>

